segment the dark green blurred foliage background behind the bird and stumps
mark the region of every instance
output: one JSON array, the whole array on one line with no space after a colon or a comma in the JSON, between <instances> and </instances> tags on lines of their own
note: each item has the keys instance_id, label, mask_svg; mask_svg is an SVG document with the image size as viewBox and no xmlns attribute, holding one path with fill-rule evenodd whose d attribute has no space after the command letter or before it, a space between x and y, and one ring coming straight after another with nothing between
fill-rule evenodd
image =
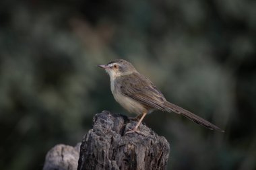
<instances>
[{"instance_id":1,"label":"dark green blurred foliage background behind the bird and stumps","mask_svg":"<svg viewBox=\"0 0 256 170\"><path fill-rule=\"evenodd\" d=\"M168 169L256 169L256 1L0 2L0 169L42 169L102 110L127 114L96 65L124 58L177 114L145 122L170 142ZM129 114L129 116L133 116Z\"/></svg>"}]
</instances>

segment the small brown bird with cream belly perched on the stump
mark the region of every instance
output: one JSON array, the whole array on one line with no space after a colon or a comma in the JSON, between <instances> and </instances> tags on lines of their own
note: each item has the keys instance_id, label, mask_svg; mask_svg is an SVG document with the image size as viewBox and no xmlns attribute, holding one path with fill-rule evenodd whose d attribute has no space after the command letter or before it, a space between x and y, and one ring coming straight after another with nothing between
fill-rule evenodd
<instances>
[{"instance_id":1,"label":"small brown bird with cream belly perched on the stump","mask_svg":"<svg viewBox=\"0 0 256 170\"><path fill-rule=\"evenodd\" d=\"M147 114L154 110L181 114L189 120L210 130L224 132L218 126L166 100L161 91L144 75L139 73L127 60L116 59L106 65L98 65L110 77L110 89L115 100L128 112L135 113L138 120L133 129L125 134L139 133L139 125Z\"/></svg>"}]
</instances>

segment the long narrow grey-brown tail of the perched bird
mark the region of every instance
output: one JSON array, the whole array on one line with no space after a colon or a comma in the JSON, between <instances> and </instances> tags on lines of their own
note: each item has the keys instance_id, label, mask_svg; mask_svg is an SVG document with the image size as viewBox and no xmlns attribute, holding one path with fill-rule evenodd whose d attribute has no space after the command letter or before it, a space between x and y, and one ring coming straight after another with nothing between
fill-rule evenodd
<instances>
[{"instance_id":1,"label":"long narrow grey-brown tail of the perched bird","mask_svg":"<svg viewBox=\"0 0 256 170\"><path fill-rule=\"evenodd\" d=\"M178 105L174 105L173 103L170 103L166 101L164 103L166 112L175 112L177 114L182 114L183 116L189 118L190 120L193 120L195 123L200 124L201 126L205 126L205 128L209 128L211 130L218 130L220 132L224 132L224 130L218 128L218 126L215 126L214 124L208 122L207 120L204 120L203 118L200 118L199 116L179 107Z\"/></svg>"}]
</instances>

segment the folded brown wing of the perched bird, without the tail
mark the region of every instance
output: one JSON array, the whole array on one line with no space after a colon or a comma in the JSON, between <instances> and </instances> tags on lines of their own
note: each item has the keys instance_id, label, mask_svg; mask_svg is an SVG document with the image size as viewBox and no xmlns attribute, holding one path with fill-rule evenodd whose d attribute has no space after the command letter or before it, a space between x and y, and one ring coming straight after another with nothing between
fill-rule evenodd
<instances>
[{"instance_id":1,"label":"folded brown wing of the perched bird, without the tail","mask_svg":"<svg viewBox=\"0 0 256 170\"><path fill-rule=\"evenodd\" d=\"M151 108L164 111L164 95L153 85L150 79L140 73L132 73L117 77L115 85L119 85L120 92L127 96L148 105Z\"/></svg>"}]
</instances>

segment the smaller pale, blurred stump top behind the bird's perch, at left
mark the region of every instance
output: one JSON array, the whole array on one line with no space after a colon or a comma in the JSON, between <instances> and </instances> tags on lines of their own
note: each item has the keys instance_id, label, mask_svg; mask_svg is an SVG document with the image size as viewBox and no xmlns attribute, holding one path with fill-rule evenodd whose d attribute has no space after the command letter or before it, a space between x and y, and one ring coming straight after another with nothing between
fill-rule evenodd
<instances>
[{"instance_id":1,"label":"smaller pale, blurred stump top behind the bird's perch, at left","mask_svg":"<svg viewBox=\"0 0 256 170\"><path fill-rule=\"evenodd\" d=\"M75 147L57 144L47 153L43 170L75 170L79 159L78 143Z\"/></svg>"}]
</instances>

